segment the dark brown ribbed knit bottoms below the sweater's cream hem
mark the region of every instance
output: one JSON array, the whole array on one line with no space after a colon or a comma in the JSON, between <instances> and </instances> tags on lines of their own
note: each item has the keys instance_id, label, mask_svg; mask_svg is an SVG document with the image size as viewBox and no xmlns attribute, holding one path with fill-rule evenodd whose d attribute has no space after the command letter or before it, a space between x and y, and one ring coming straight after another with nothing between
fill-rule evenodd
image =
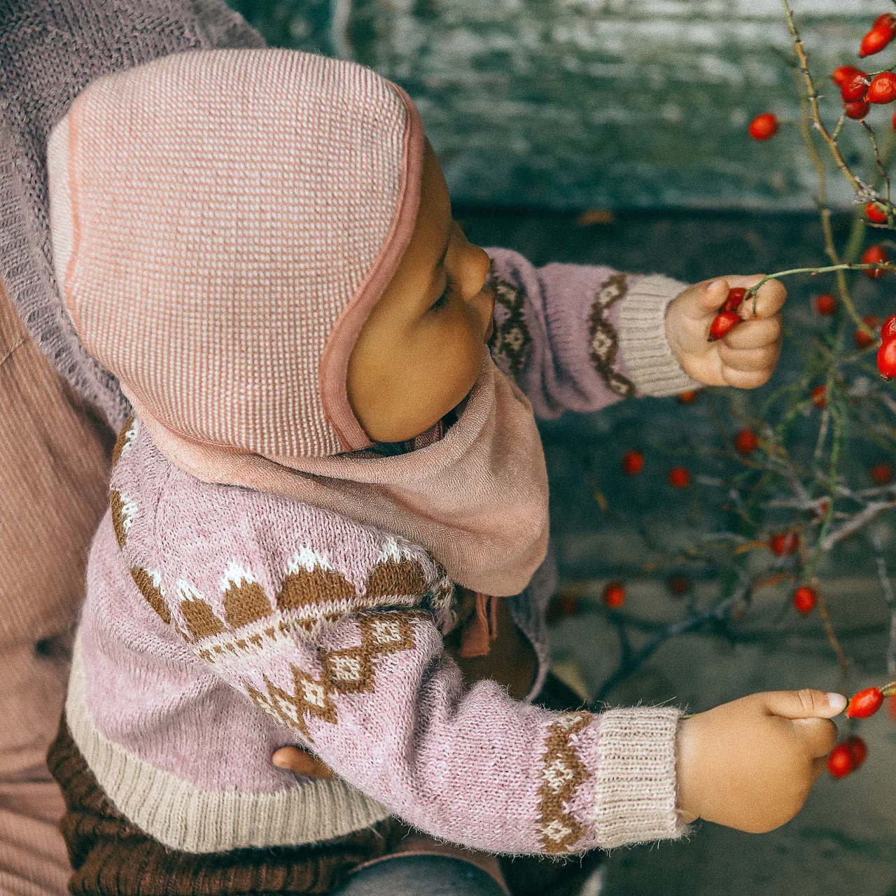
<instances>
[{"instance_id":1,"label":"dark brown ribbed knit bottoms below the sweater's cream hem","mask_svg":"<svg viewBox=\"0 0 896 896\"><path fill-rule=\"evenodd\" d=\"M387 818L336 840L269 849L168 849L116 810L74 744L65 718L47 754L65 794L60 828L74 896L273 896L330 892L363 862L394 851L409 828Z\"/></svg>"}]
</instances>

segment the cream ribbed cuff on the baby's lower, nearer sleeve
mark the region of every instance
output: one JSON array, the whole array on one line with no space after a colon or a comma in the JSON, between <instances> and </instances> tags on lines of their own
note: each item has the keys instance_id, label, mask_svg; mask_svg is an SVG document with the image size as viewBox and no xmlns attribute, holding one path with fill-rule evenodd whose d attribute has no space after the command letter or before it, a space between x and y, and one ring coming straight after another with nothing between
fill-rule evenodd
<instances>
[{"instance_id":1,"label":"cream ribbed cuff on the baby's lower, nearer sleeve","mask_svg":"<svg viewBox=\"0 0 896 896\"><path fill-rule=\"evenodd\" d=\"M601 713L595 837L601 849L681 837L676 811L676 730L681 711L638 707Z\"/></svg>"}]
</instances>

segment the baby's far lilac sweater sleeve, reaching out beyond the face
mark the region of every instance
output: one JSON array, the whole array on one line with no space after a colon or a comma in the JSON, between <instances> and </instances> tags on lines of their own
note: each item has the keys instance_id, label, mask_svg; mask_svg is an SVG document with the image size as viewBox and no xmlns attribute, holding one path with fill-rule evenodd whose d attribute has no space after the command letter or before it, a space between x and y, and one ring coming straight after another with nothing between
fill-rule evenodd
<instances>
[{"instance_id":1,"label":"baby's far lilac sweater sleeve, reaching out beyond the face","mask_svg":"<svg viewBox=\"0 0 896 896\"><path fill-rule=\"evenodd\" d=\"M585 264L536 268L509 249L487 252L495 290L489 348L538 417L700 386L666 340L666 308L684 283Z\"/></svg>"}]
</instances>

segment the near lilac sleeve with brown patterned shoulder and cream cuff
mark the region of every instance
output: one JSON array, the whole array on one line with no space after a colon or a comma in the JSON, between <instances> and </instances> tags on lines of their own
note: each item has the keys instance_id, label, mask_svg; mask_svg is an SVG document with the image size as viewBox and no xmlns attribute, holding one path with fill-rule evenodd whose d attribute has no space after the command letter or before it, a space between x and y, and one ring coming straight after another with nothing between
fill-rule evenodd
<instances>
[{"instance_id":1,"label":"near lilac sleeve with brown patterned shoulder and cream cuff","mask_svg":"<svg viewBox=\"0 0 896 896\"><path fill-rule=\"evenodd\" d=\"M349 784L423 831L494 852L684 831L678 711L556 713L495 682L464 685L443 643L453 586L422 547L202 483L139 429L119 439L110 495L132 599Z\"/></svg>"}]
</instances>

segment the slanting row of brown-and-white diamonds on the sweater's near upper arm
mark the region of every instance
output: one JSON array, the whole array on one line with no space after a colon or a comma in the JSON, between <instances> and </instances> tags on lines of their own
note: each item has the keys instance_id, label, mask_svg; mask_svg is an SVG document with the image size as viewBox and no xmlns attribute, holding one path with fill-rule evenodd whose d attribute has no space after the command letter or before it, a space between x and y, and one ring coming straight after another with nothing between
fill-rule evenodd
<instances>
[{"instance_id":1,"label":"slanting row of brown-and-white diamonds on the sweater's near upper arm","mask_svg":"<svg viewBox=\"0 0 896 896\"><path fill-rule=\"evenodd\" d=\"M306 717L335 725L339 717L333 696L372 693L375 659L399 650L413 650L414 619L424 620L426 616L419 611L401 610L359 614L361 643L341 650L323 650L320 654L323 672L319 678L289 663L293 677L292 694L272 684L266 675L263 679L267 694L262 694L248 682L244 682L243 687L256 706L298 731L306 740L313 741Z\"/></svg>"}]
</instances>

